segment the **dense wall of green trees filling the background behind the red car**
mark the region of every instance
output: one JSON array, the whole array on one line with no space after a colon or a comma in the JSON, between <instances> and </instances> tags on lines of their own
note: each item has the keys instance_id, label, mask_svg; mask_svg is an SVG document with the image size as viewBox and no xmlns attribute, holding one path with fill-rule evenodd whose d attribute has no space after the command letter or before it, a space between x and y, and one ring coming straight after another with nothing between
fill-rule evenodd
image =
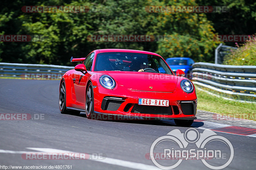
<instances>
[{"instance_id":1,"label":"dense wall of green trees filling the background behind the red car","mask_svg":"<svg viewBox=\"0 0 256 170\"><path fill-rule=\"evenodd\" d=\"M29 34L44 36L44 41L0 42L2 62L44 63L70 65L69 58L84 57L94 49L126 48L157 52L164 58L191 57L195 61L213 62L213 41L216 34L212 23L203 13L149 13L146 6L206 5L205 0L16 0L1 2L0 34ZM218 1L214 1L218 4ZM233 1L223 0L234 11L239 10ZM243 6L246 15L254 16L251 6L244 2L235 2ZM100 11L87 13L23 13L24 5L46 6L89 6L100 7ZM212 5L212 4L211 4ZM216 16L217 14L211 14ZM215 22L216 18L210 18ZM222 18L225 18L223 15ZM226 18L227 19L227 18ZM235 21L235 20L234 20ZM245 21L246 22L246 19ZM239 25L239 24L238 24ZM226 28L222 23L216 26ZM230 25L228 25L230 27ZM218 27L219 28L219 27ZM249 28L248 28L249 29ZM235 30L236 31L236 30ZM235 32L236 33L236 32ZM154 42L89 42L88 35L165 35L166 38Z\"/></svg>"}]
</instances>

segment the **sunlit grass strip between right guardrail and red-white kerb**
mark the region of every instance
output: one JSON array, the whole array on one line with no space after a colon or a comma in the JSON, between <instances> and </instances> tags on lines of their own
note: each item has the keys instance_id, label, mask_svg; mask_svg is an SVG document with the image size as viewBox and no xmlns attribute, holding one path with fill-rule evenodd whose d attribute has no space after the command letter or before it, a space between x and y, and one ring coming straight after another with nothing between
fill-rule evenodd
<instances>
[{"instance_id":1,"label":"sunlit grass strip between right guardrail and red-white kerb","mask_svg":"<svg viewBox=\"0 0 256 170\"><path fill-rule=\"evenodd\" d=\"M196 94L198 110L214 112L220 115L229 115L237 118L243 118L244 114L248 114L250 115L248 119L256 121L256 104L254 103L225 100L200 90L197 90Z\"/></svg>"}]
</instances>

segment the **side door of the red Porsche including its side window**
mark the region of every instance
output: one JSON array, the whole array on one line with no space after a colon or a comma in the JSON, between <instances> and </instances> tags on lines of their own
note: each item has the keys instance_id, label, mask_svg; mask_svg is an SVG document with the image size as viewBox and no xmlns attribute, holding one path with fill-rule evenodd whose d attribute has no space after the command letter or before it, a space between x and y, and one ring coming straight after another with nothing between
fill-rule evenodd
<instances>
[{"instance_id":1,"label":"side door of the red Porsche including its side window","mask_svg":"<svg viewBox=\"0 0 256 170\"><path fill-rule=\"evenodd\" d=\"M92 70L92 61L94 53L89 54L85 60L84 65L86 67L87 73L82 73L81 71L76 71L74 74L74 88L76 93L76 104L85 105L85 91L86 91L86 82L88 77L91 75Z\"/></svg>"}]
</instances>

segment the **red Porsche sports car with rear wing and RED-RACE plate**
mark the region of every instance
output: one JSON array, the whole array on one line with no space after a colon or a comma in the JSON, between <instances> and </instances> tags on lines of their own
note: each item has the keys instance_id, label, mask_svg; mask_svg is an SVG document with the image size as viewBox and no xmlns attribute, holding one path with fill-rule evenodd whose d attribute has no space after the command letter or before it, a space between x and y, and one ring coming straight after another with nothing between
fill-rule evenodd
<instances>
[{"instance_id":1,"label":"red Porsche sports car with rear wing and RED-RACE plate","mask_svg":"<svg viewBox=\"0 0 256 170\"><path fill-rule=\"evenodd\" d=\"M164 59L152 52L98 49L67 71L60 81L60 112L89 119L174 119L190 126L196 119L197 97L184 71L172 72Z\"/></svg>"}]
</instances>

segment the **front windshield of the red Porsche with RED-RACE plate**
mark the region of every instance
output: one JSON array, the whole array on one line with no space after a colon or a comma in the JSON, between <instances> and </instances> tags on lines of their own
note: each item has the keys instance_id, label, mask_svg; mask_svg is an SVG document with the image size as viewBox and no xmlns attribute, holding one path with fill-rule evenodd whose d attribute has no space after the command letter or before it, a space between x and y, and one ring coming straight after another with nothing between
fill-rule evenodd
<instances>
[{"instance_id":1,"label":"front windshield of the red Porsche with RED-RACE plate","mask_svg":"<svg viewBox=\"0 0 256 170\"><path fill-rule=\"evenodd\" d=\"M99 53L94 71L139 71L172 74L164 60L156 55L126 52Z\"/></svg>"}]
</instances>

